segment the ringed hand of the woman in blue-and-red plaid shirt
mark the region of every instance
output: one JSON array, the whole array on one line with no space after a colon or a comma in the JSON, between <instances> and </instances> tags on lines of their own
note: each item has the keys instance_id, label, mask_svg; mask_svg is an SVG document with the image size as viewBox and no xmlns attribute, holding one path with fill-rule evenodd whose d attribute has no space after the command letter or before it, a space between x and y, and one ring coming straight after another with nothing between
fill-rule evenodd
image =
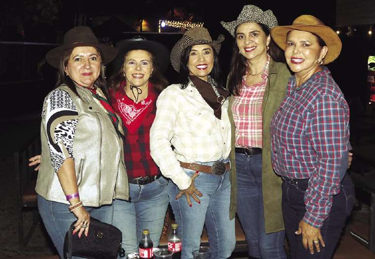
<instances>
[{"instance_id":1,"label":"ringed hand of the woman in blue-and-red plaid shirt","mask_svg":"<svg viewBox=\"0 0 375 259\"><path fill-rule=\"evenodd\" d=\"M325 247L323 237L320 234L320 229L315 228L309 224L307 224L305 221L301 220L298 224L299 228L295 232L295 234L301 234L302 233L302 244L305 249L309 248L310 253L314 254L314 245L317 249L317 252L320 252L320 244Z\"/></svg>"}]
</instances>

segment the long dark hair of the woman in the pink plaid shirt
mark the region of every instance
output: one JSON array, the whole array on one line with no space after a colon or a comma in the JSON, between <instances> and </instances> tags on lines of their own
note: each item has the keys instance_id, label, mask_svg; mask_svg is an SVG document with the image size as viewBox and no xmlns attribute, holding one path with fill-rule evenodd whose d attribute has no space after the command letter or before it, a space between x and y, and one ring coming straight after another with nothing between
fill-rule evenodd
<instances>
[{"instance_id":1,"label":"long dark hair of the woman in the pink plaid shirt","mask_svg":"<svg viewBox=\"0 0 375 259\"><path fill-rule=\"evenodd\" d=\"M261 30L265 33L266 37L270 35L270 30L267 26L257 23ZM236 35L234 36L234 44L233 44L233 52L231 58L231 71L229 73L228 78L228 90L233 95L239 95L239 92L242 87L242 77L246 74L247 69L247 59L238 50L237 47L237 28L236 28ZM276 45L276 43L272 40L269 43L269 55L271 58L276 62L285 63L285 56L282 49Z\"/></svg>"}]
</instances>

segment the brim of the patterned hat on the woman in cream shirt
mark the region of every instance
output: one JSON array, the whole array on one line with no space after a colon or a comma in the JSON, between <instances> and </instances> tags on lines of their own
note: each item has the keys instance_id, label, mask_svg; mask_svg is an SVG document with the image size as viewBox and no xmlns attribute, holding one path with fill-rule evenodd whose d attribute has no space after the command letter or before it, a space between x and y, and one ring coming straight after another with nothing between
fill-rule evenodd
<instances>
[{"instance_id":1,"label":"brim of the patterned hat on the woman in cream shirt","mask_svg":"<svg viewBox=\"0 0 375 259\"><path fill-rule=\"evenodd\" d=\"M171 63L176 72L180 72L180 63L181 63L181 56L182 52L194 45L202 45L207 44L210 45L217 54L220 52L221 44L224 41L225 37L220 34L216 40L214 41L204 41L204 40L193 40L187 35L183 35L182 38L177 41L177 43L173 46L173 49L171 51Z\"/></svg>"}]
</instances>

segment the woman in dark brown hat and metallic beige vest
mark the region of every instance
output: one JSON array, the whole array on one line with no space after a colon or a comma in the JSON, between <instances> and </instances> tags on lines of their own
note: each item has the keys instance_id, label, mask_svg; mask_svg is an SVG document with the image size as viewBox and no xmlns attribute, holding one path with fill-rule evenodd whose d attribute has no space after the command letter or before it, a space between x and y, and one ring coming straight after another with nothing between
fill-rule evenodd
<instances>
[{"instance_id":1,"label":"woman in dark brown hat and metallic beige vest","mask_svg":"<svg viewBox=\"0 0 375 259\"><path fill-rule=\"evenodd\" d=\"M86 26L70 29L46 55L59 69L57 88L43 104L41 164L36 183L43 223L63 257L63 240L87 235L90 216L112 223L112 202L128 199L121 123L107 101L104 64L117 50Z\"/></svg>"}]
</instances>

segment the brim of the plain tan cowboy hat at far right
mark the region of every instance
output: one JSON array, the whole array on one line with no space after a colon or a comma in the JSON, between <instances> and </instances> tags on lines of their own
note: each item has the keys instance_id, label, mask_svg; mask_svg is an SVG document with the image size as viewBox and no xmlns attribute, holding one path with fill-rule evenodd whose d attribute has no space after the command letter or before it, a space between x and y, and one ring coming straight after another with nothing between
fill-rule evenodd
<instances>
[{"instance_id":1,"label":"brim of the plain tan cowboy hat at far right","mask_svg":"<svg viewBox=\"0 0 375 259\"><path fill-rule=\"evenodd\" d=\"M323 64L331 63L340 55L342 48L340 37L330 27L321 25L295 25L274 27L271 30L271 37L282 50L285 50L286 48L287 34L291 30L301 30L315 33L325 42L328 48L328 52L323 58Z\"/></svg>"}]
</instances>

